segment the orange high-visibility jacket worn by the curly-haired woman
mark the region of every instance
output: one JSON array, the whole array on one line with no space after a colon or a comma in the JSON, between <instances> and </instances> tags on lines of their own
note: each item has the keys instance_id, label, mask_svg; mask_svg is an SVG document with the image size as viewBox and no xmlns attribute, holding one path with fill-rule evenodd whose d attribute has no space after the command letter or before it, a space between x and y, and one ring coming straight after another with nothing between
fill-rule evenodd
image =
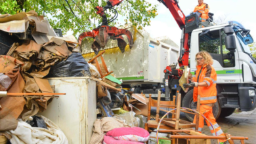
<instances>
[{"instance_id":1,"label":"orange high-visibility jacket worn by the curly-haired woman","mask_svg":"<svg viewBox=\"0 0 256 144\"><path fill-rule=\"evenodd\" d=\"M197 65L195 75L192 77L194 82L206 82L208 86L194 87L193 99L194 102L198 100L200 95L200 103L215 103L217 101L217 73L211 65Z\"/></svg>"}]
</instances>

